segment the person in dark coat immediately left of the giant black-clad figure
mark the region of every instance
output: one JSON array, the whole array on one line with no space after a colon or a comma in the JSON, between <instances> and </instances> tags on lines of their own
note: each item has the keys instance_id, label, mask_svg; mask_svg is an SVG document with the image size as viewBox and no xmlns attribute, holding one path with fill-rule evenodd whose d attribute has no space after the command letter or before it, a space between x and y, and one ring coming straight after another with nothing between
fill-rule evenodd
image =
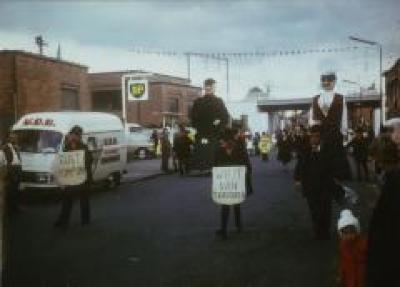
<instances>
[{"instance_id":1,"label":"person in dark coat immediately left of the giant black-clad figure","mask_svg":"<svg viewBox=\"0 0 400 287\"><path fill-rule=\"evenodd\" d=\"M189 138L184 125L179 126L179 133L174 137L173 150L178 159L178 170L181 175L189 172L189 158L192 140Z\"/></svg>"}]
</instances>

